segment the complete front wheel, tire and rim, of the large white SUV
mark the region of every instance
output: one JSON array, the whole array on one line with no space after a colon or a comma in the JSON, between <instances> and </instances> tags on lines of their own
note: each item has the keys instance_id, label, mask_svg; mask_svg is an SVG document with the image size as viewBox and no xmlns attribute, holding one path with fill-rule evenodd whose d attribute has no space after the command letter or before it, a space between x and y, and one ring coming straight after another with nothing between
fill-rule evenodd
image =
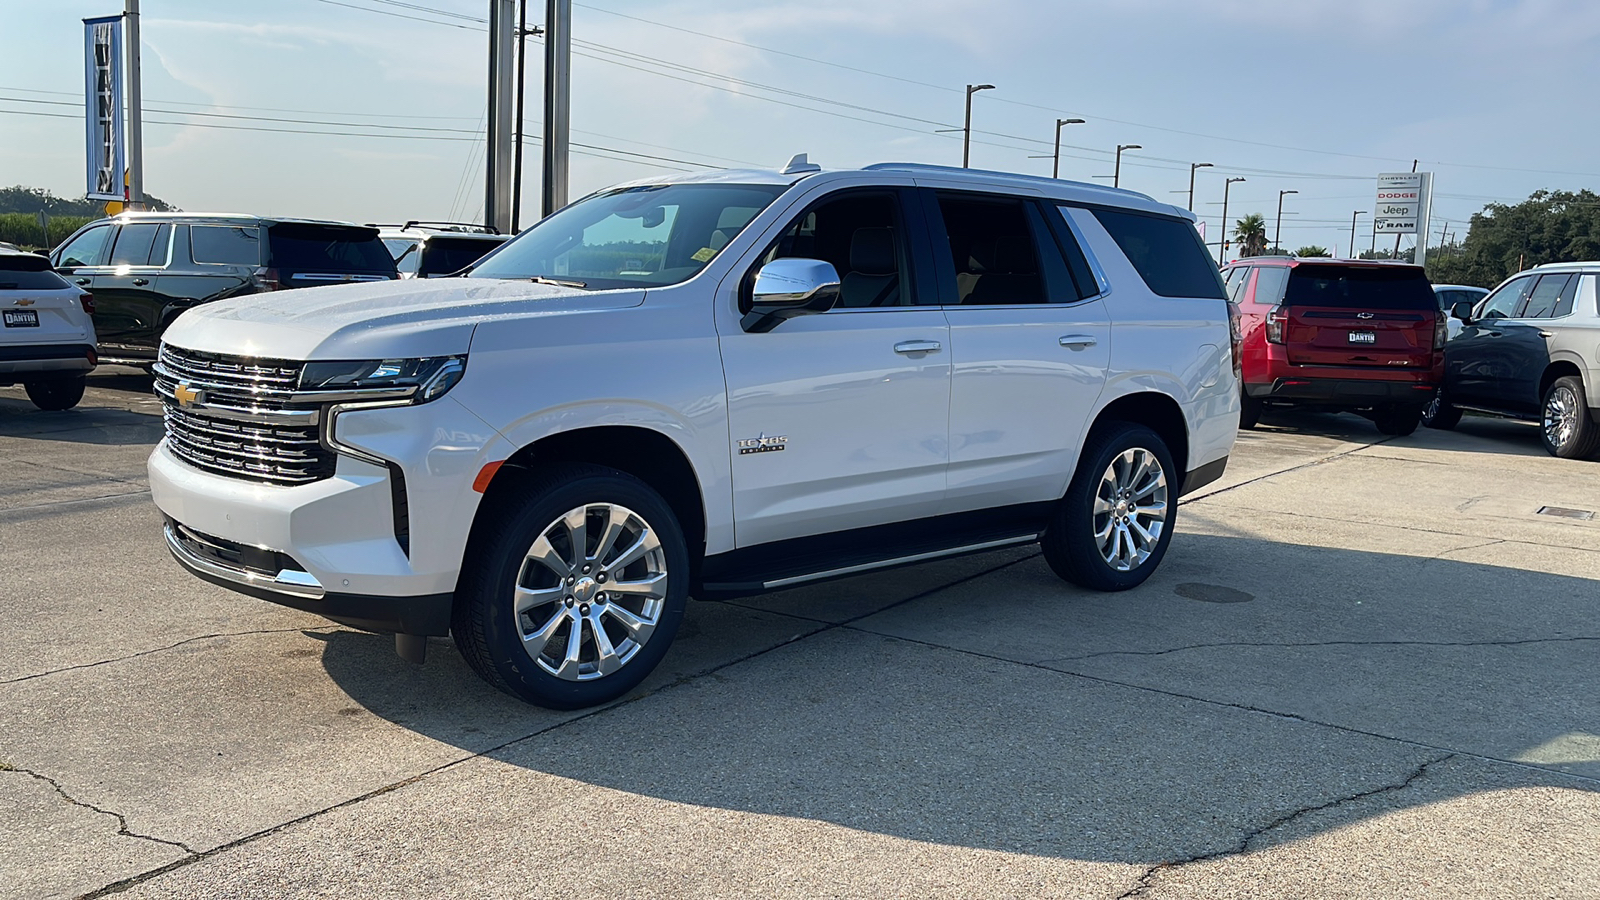
<instances>
[{"instance_id":1,"label":"complete front wheel, tire and rim, of the large white SUV","mask_svg":"<svg viewBox=\"0 0 1600 900\"><path fill-rule=\"evenodd\" d=\"M550 709L645 681L690 589L683 532L661 495L616 469L565 464L501 485L493 504L451 623L474 671Z\"/></svg>"}]
</instances>

